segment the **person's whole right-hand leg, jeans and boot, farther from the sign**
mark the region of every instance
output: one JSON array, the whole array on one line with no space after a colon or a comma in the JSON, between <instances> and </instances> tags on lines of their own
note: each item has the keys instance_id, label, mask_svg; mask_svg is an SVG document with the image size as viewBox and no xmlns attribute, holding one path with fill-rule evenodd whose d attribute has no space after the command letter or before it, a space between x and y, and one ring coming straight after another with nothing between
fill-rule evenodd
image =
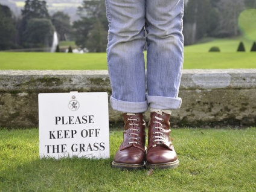
<instances>
[{"instance_id":1,"label":"person's whole right-hand leg, jeans and boot, farther from the sign","mask_svg":"<svg viewBox=\"0 0 256 192\"><path fill-rule=\"evenodd\" d=\"M183 0L146 1L149 168L174 168L179 164L169 120L171 109L181 106L178 92L184 57L183 11Z\"/></svg>"}]
</instances>

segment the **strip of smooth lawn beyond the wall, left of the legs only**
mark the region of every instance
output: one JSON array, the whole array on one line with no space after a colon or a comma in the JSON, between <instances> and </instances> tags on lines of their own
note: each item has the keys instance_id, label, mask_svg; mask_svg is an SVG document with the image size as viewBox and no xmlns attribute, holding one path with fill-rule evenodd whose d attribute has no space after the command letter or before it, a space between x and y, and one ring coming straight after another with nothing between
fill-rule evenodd
<instances>
[{"instance_id":1,"label":"strip of smooth lawn beyond the wall, left of the legs only","mask_svg":"<svg viewBox=\"0 0 256 192\"><path fill-rule=\"evenodd\" d=\"M106 53L3 53L0 69L14 70L85 70L107 69Z\"/></svg>"}]
</instances>

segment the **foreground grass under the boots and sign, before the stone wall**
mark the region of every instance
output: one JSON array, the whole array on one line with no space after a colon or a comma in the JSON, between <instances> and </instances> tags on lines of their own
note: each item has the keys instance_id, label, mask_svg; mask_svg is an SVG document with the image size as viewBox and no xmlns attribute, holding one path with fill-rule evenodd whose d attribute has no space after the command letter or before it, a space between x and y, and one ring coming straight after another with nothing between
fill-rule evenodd
<instances>
[{"instance_id":1,"label":"foreground grass under the boots and sign, before the stone wall","mask_svg":"<svg viewBox=\"0 0 256 192\"><path fill-rule=\"evenodd\" d=\"M256 127L173 129L174 170L110 167L122 131L110 130L110 159L39 159L38 129L0 129L0 191L255 191Z\"/></svg>"}]
</instances>

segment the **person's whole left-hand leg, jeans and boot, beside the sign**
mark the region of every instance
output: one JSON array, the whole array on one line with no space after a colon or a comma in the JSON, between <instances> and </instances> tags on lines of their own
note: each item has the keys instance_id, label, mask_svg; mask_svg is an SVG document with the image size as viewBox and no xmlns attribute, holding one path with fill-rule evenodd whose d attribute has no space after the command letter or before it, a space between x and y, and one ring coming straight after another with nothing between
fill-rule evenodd
<instances>
[{"instance_id":1,"label":"person's whole left-hand leg, jeans and boot, beside the sign","mask_svg":"<svg viewBox=\"0 0 256 192\"><path fill-rule=\"evenodd\" d=\"M112 86L110 104L123 112L124 140L113 167L144 167L147 110L144 64L145 0L106 0L109 35L107 65Z\"/></svg>"}]
</instances>

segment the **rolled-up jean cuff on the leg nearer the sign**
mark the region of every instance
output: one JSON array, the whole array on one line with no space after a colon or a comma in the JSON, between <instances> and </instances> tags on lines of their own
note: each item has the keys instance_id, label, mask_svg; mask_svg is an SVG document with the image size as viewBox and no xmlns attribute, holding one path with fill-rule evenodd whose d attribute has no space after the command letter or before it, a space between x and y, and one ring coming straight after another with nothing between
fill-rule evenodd
<instances>
[{"instance_id":1,"label":"rolled-up jean cuff on the leg nearer the sign","mask_svg":"<svg viewBox=\"0 0 256 192\"><path fill-rule=\"evenodd\" d=\"M118 110L120 112L126 112L126 113L146 112L148 107L147 101L135 103L135 102L117 100L112 96L110 96L110 105L112 109Z\"/></svg>"}]
</instances>

